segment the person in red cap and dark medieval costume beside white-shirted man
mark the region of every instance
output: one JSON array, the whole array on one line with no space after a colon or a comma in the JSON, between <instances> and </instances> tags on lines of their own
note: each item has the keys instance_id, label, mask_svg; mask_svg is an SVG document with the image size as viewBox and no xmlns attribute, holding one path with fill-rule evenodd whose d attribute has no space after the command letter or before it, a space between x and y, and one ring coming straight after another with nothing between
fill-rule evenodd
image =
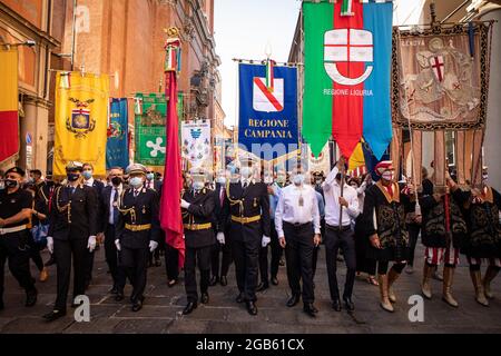
<instances>
[{"instance_id":1,"label":"person in red cap and dark medieval costume beside white-shirted man","mask_svg":"<svg viewBox=\"0 0 501 356\"><path fill-rule=\"evenodd\" d=\"M402 274L409 258L409 233L405 227L405 211L411 206L412 190L404 190L403 184L394 181L392 161L381 161L375 167L381 179L365 191L363 230L371 246L367 258L377 260L377 274L381 291L381 307L394 312L396 296L393 284ZM390 261L394 261L389 270Z\"/></svg>"}]
</instances>

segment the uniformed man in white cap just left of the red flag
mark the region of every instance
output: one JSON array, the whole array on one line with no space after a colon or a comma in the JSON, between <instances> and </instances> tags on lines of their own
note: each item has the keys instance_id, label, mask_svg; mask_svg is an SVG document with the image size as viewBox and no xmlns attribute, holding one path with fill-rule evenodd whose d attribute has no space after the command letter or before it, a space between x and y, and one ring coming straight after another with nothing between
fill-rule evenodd
<instances>
[{"instance_id":1,"label":"uniformed man in white cap just left of the red flag","mask_svg":"<svg viewBox=\"0 0 501 356\"><path fill-rule=\"evenodd\" d=\"M132 283L132 312L143 308L149 254L158 247L160 221L158 194L145 188L146 168L143 165L127 167L129 188L118 201L118 224L115 245L120 265Z\"/></svg>"}]
</instances>

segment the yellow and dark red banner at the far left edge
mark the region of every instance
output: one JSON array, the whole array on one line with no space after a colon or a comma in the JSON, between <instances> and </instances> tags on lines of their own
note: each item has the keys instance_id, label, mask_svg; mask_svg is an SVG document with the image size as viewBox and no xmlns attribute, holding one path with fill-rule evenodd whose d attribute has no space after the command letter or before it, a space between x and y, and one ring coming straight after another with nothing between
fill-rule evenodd
<instances>
[{"instance_id":1,"label":"yellow and dark red banner at the far left edge","mask_svg":"<svg viewBox=\"0 0 501 356\"><path fill-rule=\"evenodd\" d=\"M19 152L18 49L0 47L0 164Z\"/></svg>"}]
</instances>

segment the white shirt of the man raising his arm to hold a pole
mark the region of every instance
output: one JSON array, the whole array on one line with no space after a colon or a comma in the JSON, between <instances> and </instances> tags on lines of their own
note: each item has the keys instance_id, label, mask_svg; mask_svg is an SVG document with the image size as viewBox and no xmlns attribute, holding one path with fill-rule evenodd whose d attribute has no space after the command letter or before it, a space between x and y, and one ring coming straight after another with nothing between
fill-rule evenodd
<instances>
[{"instance_id":1,"label":"white shirt of the man raising his arm to hold a pole","mask_svg":"<svg viewBox=\"0 0 501 356\"><path fill-rule=\"evenodd\" d=\"M336 180L338 172L337 167L328 174L322 187L324 188L325 198L325 224L330 226L340 226L340 197L341 186ZM352 219L355 219L358 214L358 194L353 187L344 185L343 197L346 199L348 207L343 207L342 226L350 226Z\"/></svg>"}]
</instances>

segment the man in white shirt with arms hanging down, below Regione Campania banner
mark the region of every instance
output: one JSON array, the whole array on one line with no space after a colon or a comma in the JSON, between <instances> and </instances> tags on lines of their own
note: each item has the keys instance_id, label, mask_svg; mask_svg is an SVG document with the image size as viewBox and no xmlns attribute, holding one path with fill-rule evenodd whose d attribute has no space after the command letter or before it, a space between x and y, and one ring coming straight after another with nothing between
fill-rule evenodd
<instances>
[{"instance_id":1,"label":"man in white shirt with arms hanging down, below Regione Campania banner","mask_svg":"<svg viewBox=\"0 0 501 356\"><path fill-rule=\"evenodd\" d=\"M318 204L315 189L305 184L302 168L293 172L292 185L282 189L275 210L275 227L279 244L285 248L287 279L292 297L288 307L299 303L303 279L303 310L315 317L313 291L313 248L321 243Z\"/></svg>"}]
</instances>

